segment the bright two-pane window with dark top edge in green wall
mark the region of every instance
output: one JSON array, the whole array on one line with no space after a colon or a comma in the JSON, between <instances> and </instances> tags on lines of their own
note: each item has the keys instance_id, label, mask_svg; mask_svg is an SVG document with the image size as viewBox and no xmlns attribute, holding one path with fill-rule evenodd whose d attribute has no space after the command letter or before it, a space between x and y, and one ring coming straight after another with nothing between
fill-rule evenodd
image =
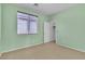
<instances>
[{"instance_id":1,"label":"bright two-pane window with dark top edge in green wall","mask_svg":"<svg viewBox=\"0 0 85 64\"><path fill-rule=\"evenodd\" d=\"M17 12L17 34L37 34L38 16Z\"/></svg>"}]
</instances>

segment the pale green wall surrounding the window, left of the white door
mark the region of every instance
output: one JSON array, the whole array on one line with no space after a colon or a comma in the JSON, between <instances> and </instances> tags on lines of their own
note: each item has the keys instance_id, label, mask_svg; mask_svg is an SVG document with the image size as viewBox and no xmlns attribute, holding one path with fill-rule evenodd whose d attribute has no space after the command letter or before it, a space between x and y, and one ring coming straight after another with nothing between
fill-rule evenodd
<instances>
[{"instance_id":1,"label":"pale green wall surrounding the window, left of the white door","mask_svg":"<svg viewBox=\"0 0 85 64\"><path fill-rule=\"evenodd\" d=\"M3 21L2 21L2 42L3 49L1 52L16 50L43 43L44 33L43 24L47 20L45 15L37 14L28 8L22 8L14 4L2 4ZM17 11L36 14L39 16L38 34L37 35L17 35Z\"/></svg>"}]
</instances>

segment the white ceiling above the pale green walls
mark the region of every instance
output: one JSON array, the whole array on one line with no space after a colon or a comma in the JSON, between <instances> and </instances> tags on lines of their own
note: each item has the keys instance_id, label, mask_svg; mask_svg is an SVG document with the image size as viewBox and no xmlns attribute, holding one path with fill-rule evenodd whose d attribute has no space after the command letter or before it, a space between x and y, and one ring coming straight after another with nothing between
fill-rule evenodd
<instances>
[{"instance_id":1,"label":"white ceiling above the pale green walls","mask_svg":"<svg viewBox=\"0 0 85 64\"><path fill-rule=\"evenodd\" d=\"M39 5L34 5L33 3L19 3L22 7L27 7L36 10L38 13L44 13L46 15L58 13L62 10L66 10L70 7L74 7L76 4L73 3L39 3Z\"/></svg>"}]
</instances>

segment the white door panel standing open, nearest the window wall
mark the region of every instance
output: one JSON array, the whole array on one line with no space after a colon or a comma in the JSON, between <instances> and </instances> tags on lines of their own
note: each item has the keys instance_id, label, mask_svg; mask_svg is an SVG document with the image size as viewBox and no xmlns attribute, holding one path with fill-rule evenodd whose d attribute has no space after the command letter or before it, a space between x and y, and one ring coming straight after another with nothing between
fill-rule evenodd
<instances>
[{"instance_id":1,"label":"white door panel standing open, nearest the window wall","mask_svg":"<svg viewBox=\"0 0 85 64\"><path fill-rule=\"evenodd\" d=\"M44 22L44 43L51 40L51 26L49 22Z\"/></svg>"}]
</instances>

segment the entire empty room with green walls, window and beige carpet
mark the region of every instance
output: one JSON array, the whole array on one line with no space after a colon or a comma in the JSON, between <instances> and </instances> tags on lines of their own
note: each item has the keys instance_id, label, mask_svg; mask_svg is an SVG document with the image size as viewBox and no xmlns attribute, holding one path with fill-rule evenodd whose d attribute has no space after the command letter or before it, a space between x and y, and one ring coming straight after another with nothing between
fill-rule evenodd
<instances>
[{"instance_id":1,"label":"entire empty room with green walls, window and beige carpet","mask_svg":"<svg viewBox=\"0 0 85 64\"><path fill-rule=\"evenodd\" d=\"M0 60L85 59L84 3L0 3Z\"/></svg>"}]
</instances>

